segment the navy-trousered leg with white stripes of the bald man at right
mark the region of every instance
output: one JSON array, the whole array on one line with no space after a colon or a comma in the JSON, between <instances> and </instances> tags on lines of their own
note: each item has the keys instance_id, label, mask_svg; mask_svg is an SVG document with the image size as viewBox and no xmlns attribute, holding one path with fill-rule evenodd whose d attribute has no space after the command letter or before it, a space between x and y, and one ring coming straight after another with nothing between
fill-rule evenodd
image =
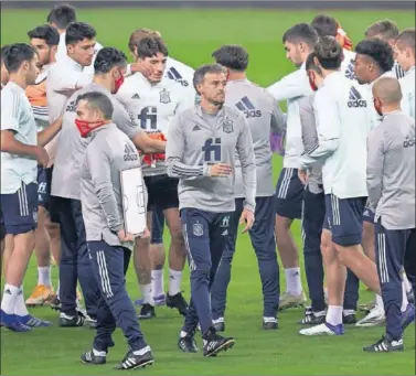
<instances>
[{"instance_id":1,"label":"navy-trousered leg with white stripes of the bald man at right","mask_svg":"<svg viewBox=\"0 0 416 376\"><path fill-rule=\"evenodd\" d=\"M403 351L403 288L402 269L406 254L408 230L388 230L376 224L376 265L386 315L386 335L366 352Z\"/></svg>"}]
</instances>

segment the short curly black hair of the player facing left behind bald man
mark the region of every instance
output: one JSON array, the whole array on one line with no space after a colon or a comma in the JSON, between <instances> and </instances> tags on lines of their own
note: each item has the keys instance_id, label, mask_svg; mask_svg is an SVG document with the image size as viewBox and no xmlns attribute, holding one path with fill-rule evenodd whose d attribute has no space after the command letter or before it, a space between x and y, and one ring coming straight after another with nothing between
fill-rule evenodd
<instances>
[{"instance_id":1,"label":"short curly black hair of the player facing left behind bald man","mask_svg":"<svg viewBox=\"0 0 416 376\"><path fill-rule=\"evenodd\" d=\"M393 50L390 44L380 39L363 40L355 46L360 55L369 56L384 72L392 71L394 65Z\"/></svg>"}]
</instances>

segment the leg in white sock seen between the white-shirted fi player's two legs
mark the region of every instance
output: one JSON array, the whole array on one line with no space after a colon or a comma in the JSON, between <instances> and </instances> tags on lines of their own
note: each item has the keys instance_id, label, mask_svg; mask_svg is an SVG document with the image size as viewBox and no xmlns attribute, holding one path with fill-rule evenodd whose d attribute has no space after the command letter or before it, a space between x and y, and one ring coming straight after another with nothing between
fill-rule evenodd
<instances>
[{"instance_id":1,"label":"leg in white sock seen between the white-shirted fi player's two legs","mask_svg":"<svg viewBox=\"0 0 416 376\"><path fill-rule=\"evenodd\" d=\"M150 258L152 264L151 288L156 305L163 305L166 300L163 281L163 266L166 259L163 247L163 211L159 206L156 206L152 214L150 237Z\"/></svg>"}]
</instances>

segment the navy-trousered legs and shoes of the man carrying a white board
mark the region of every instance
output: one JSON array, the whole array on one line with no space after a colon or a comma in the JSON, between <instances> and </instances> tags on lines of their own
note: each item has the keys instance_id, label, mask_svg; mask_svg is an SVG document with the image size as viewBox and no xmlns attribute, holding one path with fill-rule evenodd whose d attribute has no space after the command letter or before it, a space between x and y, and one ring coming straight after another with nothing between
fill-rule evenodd
<instances>
[{"instance_id":1,"label":"navy-trousered legs and shoes of the man carrying a white board","mask_svg":"<svg viewBox=\"0 0 416 376\"><path fill-rule=\"evenodd\" d=\"M105 363L106 353L114 345L111 334L117 323L129 345L125 359L117 368L132 369L153 363L151 350L145 341L135 307L127 293L124 248L109 246L105 241L88 241L88 248L94 277L107 308L97 318L99 321L93 350L85 353L82 359Z\"/></svg>"}]
</instances>

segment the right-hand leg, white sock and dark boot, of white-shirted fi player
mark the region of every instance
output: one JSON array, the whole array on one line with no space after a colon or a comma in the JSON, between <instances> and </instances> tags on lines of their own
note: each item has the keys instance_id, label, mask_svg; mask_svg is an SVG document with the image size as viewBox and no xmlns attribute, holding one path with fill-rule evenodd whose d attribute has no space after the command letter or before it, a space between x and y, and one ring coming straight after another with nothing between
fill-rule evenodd
<instances>
[{"instance_id":1,"label":"right-hand leg, white sock and dark boot, of white-shirted fi player","mask_svg":"<svg viewBox=\"0 0 416 376\"><path fill-rule=\"evenodd\" d=\"M182 224L179 215L178 180L168 176L159 184L158 205L163 210L169 227L171 243L169 247L169 291L167 305L175 308L185 315L188 303L182 296L182 272L186 260L186 249L182 234Z\"/></svg>"}]
</instances>

